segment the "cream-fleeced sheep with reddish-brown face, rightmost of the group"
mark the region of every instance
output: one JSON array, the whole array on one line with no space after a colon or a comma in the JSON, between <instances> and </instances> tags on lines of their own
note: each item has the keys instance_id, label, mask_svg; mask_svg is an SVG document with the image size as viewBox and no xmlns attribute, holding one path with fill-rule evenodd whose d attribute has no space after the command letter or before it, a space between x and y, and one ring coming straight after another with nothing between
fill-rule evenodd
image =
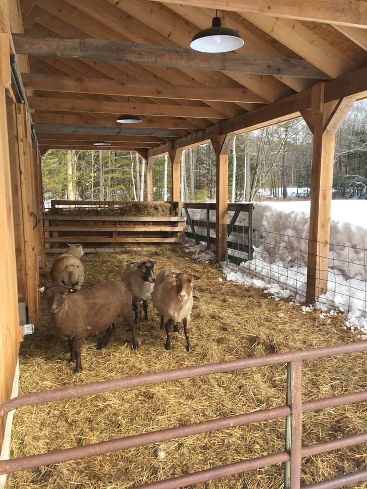
<instances>
[{"instance_id":1,"label":"cream-fleeced sheep with reddish-brown face, rightmost of the group","mask_svg":"<svg viewBox=\"0 0 367 489\"><path fill-rule=\"evenodd\" d=\"M200 277L191 273L181 273L175 268L166 268L158 275L152 294L154 307L161 315L161 328L166 327L166 350L171 349L171 327L177 323L184 325L186 350L190 351L190 315L192 309L192 289Z\"/></svg>"}]
</instances>

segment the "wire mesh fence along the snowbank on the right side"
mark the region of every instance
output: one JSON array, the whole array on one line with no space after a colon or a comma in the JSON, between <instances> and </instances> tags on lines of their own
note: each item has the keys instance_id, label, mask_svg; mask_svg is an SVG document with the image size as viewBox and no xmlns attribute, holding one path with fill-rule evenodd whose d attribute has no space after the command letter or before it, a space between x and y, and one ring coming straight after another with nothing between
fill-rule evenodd
<instances>
[{"instance_id":1,"label":"wire mesh fence along the snowbank on the right side","mask_svg":"<svg viewBox=\"0 0 367 489\"><path fill-rule=\"evenodd\" d=\"M215 216L213 216L215 217ZM197 250L215 252L215 222L191 219L197 230ZM210 242L204 231L209 227ZM215 229L217 227L217 229ZM186 239L193 243L192 230L186 227ZM251 234L251 238L250 238ZM351 318L366 318L367 250L318 242L316 255L309 255L309 240L288 234L233 226L219 230L220 241L227 246L221 261L229 270L243 272L244 277L258 279L258 285L278 285L277 295L306 301L308 261L314 263L309 275L316 277L317 302L325 308L338 308ZM313 258L313 260L312 260ZM327 258L327 259L326 259ZM251 280L244 280L250 283Z\"/></svg>"}]
</instances>

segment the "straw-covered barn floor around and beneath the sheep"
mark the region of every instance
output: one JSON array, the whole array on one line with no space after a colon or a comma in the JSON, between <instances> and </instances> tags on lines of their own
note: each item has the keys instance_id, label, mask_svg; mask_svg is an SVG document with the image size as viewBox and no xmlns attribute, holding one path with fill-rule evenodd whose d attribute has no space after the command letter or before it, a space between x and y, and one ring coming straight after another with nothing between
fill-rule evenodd
<instances>
[{"instance_id":1,"label":"straw-covered barn floor around and beneath the sheep","mask_svg":"<svg viewBox=\"0 0 367 489\"><path fill-rule=\"evenodd\" d=\"M52 389L162 369L357 341L344 329L345 318L320 319L319 312L302 314L301 306L268 299L261 289L220 282L219 269L187 258L177 246L126 246L121 254L87 255L85 285L119 279L132 259L157 261L157 273L175 266L199 275L191 317L193 350L187 353L183 331L173 336L172 350L164 349L165 334L150 305L151 324L138 326L141 347L131 348L131 334L119 327L109 346L96 350L98 338L84 343L84 371L75 375L67 363L67 343L41 327L20 347L20 393ZM41 280L49 283L46 263ZM280 314L283 317L279 317ZM303 400L366 388L366 354L303 362ZM240 414L284 404L285 365L230 374L211 375L161 385L134 388L19 408L15 412L11 457L69 448L120 438L215 417ZM311 444L366 430L366 404L354 404L304 415L303 443ZM177 439L85 460L18 472L7 488L132 488L240 459L284 449L284 419L255 423L220 432ZM160 458L159 453L166 454ZM303 460L302 483L311 484L345 472L365 469L367 447L351 447ZM281 466L252 471L195 488L279 489ZM367 488L367 483L349 486Z\"/></svg>"}]
</instances>

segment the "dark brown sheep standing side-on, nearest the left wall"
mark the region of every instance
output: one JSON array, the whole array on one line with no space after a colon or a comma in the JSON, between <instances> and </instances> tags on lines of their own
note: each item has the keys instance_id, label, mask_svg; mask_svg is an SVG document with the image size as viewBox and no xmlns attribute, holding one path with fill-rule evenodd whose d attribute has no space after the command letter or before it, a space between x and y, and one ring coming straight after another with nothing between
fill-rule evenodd
<instances>
[{"instance_id":1,"label":"dark brown sheep standing side-on, nearest the left wall","mask_svg":"<svg viewBox=\"0 0 367 489\"><path fill-rule=\"evenodd\" d=\"M135 325L131 317L132 294L119 280L111 280L72 294L64 285L50 285L39 289L47 295L51 325L56 334L66 338L70 347L70 361L76 360L76 372L82 371L81 350L88 331L100 331L108 326L98 345L103 348L115 329L115 321L122 316L131 329L133 347L138 348Z\"/></svg>"}]
</instances>

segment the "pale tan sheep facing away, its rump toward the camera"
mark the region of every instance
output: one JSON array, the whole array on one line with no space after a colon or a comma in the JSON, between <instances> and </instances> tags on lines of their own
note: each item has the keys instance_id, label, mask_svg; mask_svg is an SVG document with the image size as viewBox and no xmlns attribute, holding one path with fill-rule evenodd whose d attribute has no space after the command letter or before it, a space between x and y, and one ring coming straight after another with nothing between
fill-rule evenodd
<instances>
[{"instance_id":1,"label":"pale tan sheep facing away, its rump toward the camera","mask_svg":"<svg viewBox=\"0 0 367 489\"><path fill-rule=\"evenodd\" d=\"M50 270L52 282L80 290L84 282L84 267L79 258L83 255L83 246L80 243L69 245L67 252L62 253L52 263Z\"/></svg>"}]
</instances>

